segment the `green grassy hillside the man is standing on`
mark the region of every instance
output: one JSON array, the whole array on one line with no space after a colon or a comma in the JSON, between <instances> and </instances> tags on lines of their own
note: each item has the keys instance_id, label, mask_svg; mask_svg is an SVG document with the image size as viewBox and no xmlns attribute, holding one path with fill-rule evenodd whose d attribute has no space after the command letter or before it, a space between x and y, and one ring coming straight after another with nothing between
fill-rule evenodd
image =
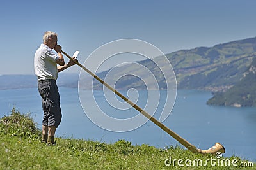
<instances>
[{"instance_id":1,"label":"green grassy hillside the man is standing on","mask_svg":"<svg viewBox=\"0 0 256 170\"><path fill-rule=\"evenodd\" d=\"M56 146L40 142L40 131L29 115L13 108L11 115L0 119L0 169L253 169L234 166L184 166L177 160L216 159L214 155L199 155L180 146L165 149L149 145L132 145L120 139L115 143L102 143L82 139L56 138ZM164 161L172 157L175 165ZM230 162L248 162L239 157L221 158ZM168 163L168 161L167 161ZM188 163L188 162L187 162ZM237 163L238 164L238 163ZM193 165L193 164L192 164Z\"/></svg>"}]
</instances>

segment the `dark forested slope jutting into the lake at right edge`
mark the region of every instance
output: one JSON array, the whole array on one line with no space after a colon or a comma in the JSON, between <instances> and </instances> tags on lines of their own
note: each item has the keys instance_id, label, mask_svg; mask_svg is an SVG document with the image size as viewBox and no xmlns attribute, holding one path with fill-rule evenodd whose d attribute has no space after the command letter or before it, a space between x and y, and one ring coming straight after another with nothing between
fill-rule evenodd
<instances>
[{"instance_id":1,"label":"dark forested slope jutting into the lake at right edge","mask_svg":"<svg viewBox=\"0 0 256 170\"><path fill-rule=\"evenodd\" d=\"M226 92L216 92L207 104L220 106L256 106L256 56L243 78Z\"/></svg>"}]
</instances>

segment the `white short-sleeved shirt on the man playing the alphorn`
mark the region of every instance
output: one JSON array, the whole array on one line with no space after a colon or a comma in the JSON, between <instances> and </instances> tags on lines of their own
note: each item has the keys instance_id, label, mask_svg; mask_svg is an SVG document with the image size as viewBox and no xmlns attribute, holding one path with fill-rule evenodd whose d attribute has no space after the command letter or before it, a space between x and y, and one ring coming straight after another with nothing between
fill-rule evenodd
<instances>
[{"instance_id":1,"label":"white short-sleeved shirt on the man playing the alphorn","mask_svg":"<svg viewBox=\"0 0 256 170\"><path fill-rule=\"evenodd\" d=\"M41 44L40 47L36 50L34 58L34 68L35 74L40 80L48 80L58 78L58 69L56 60L59 59L59 56L52 52L52 49L45 44Z\"/></svg>"}]
</instances>

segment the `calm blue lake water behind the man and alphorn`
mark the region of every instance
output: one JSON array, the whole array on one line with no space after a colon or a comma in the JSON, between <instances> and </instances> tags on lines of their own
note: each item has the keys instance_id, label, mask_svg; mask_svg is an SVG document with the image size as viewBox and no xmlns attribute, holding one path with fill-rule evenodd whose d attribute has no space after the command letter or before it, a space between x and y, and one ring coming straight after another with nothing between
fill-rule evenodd
<instances>
[{"instance_id":1,"label":"calm blue lake water behind the man and alphorn","mask_svg":"<svg viewBox=\"0 0 256 170\"><path fill-rule=\"evenodd\" d=\"M104 98L102 92L95 93L99 104L104 107L106 101L102 99ZM161 93L165 92L161 91ZM60 96L63 119L56 136L106 143L125 139L131 141L133 145L146 143L158 148L177 144L172 136L150 121L130 132L106 131L86 117L77 89L60 87ZM208 149L219 142L225 146L225 156L237 155L243 159L256 161L255 108L207 106L205 103L209 97L211 92L178 90L172 114L163 124L200 149ZM86 100L89 104L91 101L90 98ZM31 113L38 127L41 126L42 106L36 88L0 90L0 117L10 114L14 105L21 113ZM116 110L114 115L118 114L122 114L122 111Z\"/></svg>"}]
</instances>

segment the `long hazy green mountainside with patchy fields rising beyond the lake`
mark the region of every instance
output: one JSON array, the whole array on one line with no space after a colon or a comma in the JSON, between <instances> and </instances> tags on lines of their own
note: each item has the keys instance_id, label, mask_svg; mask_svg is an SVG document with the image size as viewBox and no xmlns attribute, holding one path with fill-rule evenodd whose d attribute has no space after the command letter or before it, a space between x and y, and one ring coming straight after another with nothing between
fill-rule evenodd
<instances>
[{"instance_id":1,"label":"long hazy green mountainside with patchy fields rising beyond the lake","mask_svg":"<svg viewBox=\"0 0 256 170\"><path fill-rule=\"evenodd\" d=\"M198 47L191 50L180 50L166 54L173 66L179 89L203 89L212 91L225 91L243 78L244 72L252 63L256 55L256 38L248 38L215 45L211 48ZM168 63L161 62L163 56L155 60L161 63L161 67L168 67ZM160 89L166 89L166 83L161 74L161 68L152 60L138 62L147 67L156 77ZM113 70L112 70L113 71ZM138 73L147 79L148 73L126 65L116 68L115 77L122 77L115 85L115 89L126 90L131 87L145 89L143 81L135 76L122 76L125 73ZM104 79L108 71L97 73ZM116 81L115 77L113 80ZM84 83L84 89L92 88ZM93 89L102 89L102 85L95 81Z\"/></svg>"}]
</instances>

